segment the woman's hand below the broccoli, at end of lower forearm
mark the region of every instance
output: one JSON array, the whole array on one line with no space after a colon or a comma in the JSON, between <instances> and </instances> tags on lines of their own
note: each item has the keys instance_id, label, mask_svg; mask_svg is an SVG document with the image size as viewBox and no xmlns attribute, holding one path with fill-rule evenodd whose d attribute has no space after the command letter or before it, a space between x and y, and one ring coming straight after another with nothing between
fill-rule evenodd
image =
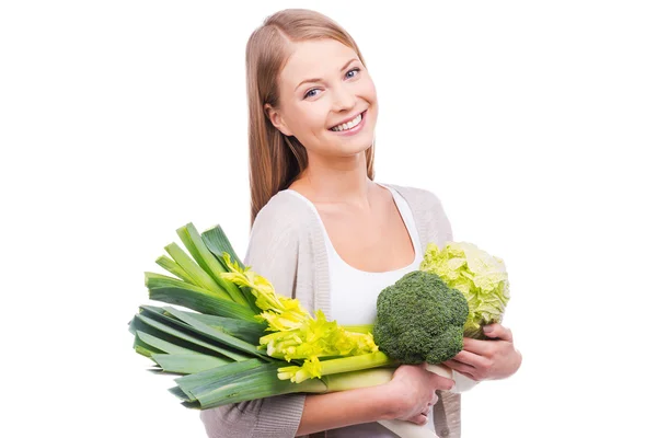
<instances>
[{"instance_id":1,"label":"woman's hand below the broccoli, at end of lower forearm","mask_svg":"<svg viewBox=\"0 0 657 438\"><path fill-rule=\"evenodd\" d=\"M387 383L393 403L393 413L387 419L404 419L418 425L427 423L427 415L438 402L436 391L449 391L454 381L426 370L425 365L400 366Z\"/></svg>"}]
</instances>

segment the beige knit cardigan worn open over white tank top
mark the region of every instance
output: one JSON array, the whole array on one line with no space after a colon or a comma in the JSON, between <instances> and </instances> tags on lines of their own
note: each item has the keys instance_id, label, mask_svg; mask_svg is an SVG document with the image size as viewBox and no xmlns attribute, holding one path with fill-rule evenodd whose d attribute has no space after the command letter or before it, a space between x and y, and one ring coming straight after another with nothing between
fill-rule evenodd
<instances>
[{"instance_id":1,"label":"beige knit cardigan worn open over white tank top","mask_svg":"<svg viewBox=\"0 0 657 438\"><path fill-rule=\"evenodd\" d=\"M452 240L440 200L430 192L388 184L408 203L423 250ZM269 279L278 293L292 296L306 309L322 309L331 320L328 260L322 223L293 194L280 192L257 215L244 263ZM235 403L201 411L209 438L293 437L301 420L306 395L290 394ZM440 393L434 408L440 438L461 436L461 399ZM323 437L313 434L312 437ZM366 438L366 437L364 437Z\"/></svg>"}]
</instances>

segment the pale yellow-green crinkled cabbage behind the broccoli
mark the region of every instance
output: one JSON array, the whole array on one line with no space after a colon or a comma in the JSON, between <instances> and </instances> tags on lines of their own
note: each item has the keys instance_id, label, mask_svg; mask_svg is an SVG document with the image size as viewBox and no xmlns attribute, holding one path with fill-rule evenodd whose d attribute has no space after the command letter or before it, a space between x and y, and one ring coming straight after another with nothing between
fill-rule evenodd
<instances>
[{"instance_id":1,"label":"pale yellow-green crinkled cabbage behind the broccoli","mask_svg":"<svg viewBox=\"0 0 657 438\"><path fill-rule=\"evenodd\" d=\"M483 326L502 322L510 298L502 258L468 242L447 242L442 250L429 243L419 269L438 275L463 293L470 309L464 336L484 339Z\"/></svg>"}]
</instances>

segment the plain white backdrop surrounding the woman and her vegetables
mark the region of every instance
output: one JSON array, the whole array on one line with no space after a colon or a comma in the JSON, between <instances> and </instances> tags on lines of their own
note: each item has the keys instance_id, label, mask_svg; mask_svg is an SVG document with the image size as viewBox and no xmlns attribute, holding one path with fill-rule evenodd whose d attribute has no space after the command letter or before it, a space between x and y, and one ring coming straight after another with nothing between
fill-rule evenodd
<instances>
[{"instance_id":1,"label":"plain white backdrop surrounding the woman and her vegetables","mask_svg":"<svg viewBox=\"0 0 657 438\"><path fill-rule=\"evenodd\" d=\"M463 396L463 437L655 436L654 3L371 4L2 3L0 435L205 436L127 323L177 227L244 254L244 48L303 5L376 81L377 180L507 263L525 361Z\"/></svg>"}]
</instances>

